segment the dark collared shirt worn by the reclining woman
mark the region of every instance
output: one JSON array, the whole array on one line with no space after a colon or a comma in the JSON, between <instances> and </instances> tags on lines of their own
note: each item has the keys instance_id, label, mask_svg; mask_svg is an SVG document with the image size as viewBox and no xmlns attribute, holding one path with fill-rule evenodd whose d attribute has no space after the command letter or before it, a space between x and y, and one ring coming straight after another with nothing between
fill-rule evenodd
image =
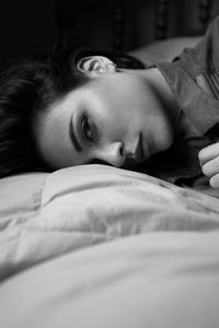
<instances>
[{"instance_id":1,"label":"dark collared shirt worn by the reclining woman","mask_svg":"<svg viewBox=\"0 0 219 328\"><path fill-rule=\"evenodd\" d=\"M168 151L154 155L139 171L211 194L198 152L219 141L219 16L194 48L186 48L173 62L155 67L197 134L176 139Z\"/></svg>"}]
</instances>

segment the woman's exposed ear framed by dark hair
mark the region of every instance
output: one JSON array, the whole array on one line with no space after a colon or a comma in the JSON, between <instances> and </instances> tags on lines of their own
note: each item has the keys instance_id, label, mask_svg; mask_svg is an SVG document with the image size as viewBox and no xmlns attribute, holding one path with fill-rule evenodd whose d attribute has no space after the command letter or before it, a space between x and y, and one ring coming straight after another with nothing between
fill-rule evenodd
<instances>
[{"instance_id":1,"label":"woman's exposed ear framed by dark hair","mask_svg":"<svg viewBox=\"0 0 219 328\"><path fill-rule=\"evenodd\" d=\"M79 59L77 69L90 75L97 75L115 72L116 65L107 57L90 56Z\"/></svg>"}]
</instances>

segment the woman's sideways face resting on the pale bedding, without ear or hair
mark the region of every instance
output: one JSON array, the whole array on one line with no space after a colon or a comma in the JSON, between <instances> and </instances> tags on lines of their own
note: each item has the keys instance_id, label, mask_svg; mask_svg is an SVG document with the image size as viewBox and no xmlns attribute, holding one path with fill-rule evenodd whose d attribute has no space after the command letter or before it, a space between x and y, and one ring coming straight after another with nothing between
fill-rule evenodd
<instances>
[{"instance_id":1,"label":"woman's sideways face resting on the pale bedding, without ear or hair","mask_svg":"<svg viewBox=\"0 0 219 328\"><path fill-rule=\"evenodd\" d=\"M50 106L38 147L54 168L105 162L132 167L172 143L170 120L141 73L100 73Z\"/></svg>"}]
</instances>

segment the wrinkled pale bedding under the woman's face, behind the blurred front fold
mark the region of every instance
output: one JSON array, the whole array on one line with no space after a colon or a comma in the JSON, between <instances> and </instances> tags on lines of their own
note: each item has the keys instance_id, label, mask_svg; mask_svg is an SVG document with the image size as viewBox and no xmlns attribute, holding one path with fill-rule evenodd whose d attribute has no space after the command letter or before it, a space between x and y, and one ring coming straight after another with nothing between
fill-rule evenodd
<instances>
[{"instance_id":1,"label":"wrinkled pale bedding under the woman's face, behind the blurred front fold","mask_svg":"<svg viewBox=\"0 0 219 328\"><path fill-rule=\"evenodd\" d=\"M23 181L18 176L0 184L8 186L0 198L1 281L67 253L125 236L219 227L217 199L112 166L74 166L39 175L38 183L36 175L24 175ZM30 192L20 198L22 189Z\"/></svg>"}]
</instances>

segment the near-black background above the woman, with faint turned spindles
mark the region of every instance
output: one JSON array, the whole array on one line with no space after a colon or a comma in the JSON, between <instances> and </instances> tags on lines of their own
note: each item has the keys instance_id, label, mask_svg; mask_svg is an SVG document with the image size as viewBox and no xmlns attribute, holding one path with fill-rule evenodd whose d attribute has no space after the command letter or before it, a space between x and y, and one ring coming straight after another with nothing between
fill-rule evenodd
<instances>
[{"instance_id":1,"label":"near-black background above the woman, with faint turned spindles","mask_svg":"<svg viewBox=\"0 0 219 328\"><path fill-rule=\"evenodd\" d=\"M200 35L218 13L217 0L1 0L0 63L42 57L66 34L83 46L125 51Z\"/></svg>"}]
</instances>

